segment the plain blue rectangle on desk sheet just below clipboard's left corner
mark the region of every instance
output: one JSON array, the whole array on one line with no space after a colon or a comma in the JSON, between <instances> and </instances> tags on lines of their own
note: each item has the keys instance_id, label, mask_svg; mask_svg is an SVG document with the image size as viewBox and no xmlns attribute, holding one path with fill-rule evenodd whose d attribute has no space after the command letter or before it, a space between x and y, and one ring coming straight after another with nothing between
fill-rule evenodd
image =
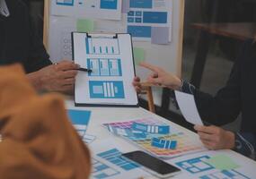
<instances>
[{"instance_id":1,"label":"plain blue rectangle on desk sheet just below clipboard's left corner","mask_svg":"<svg viewBox=\"0 0 256 179\"><path fill-rule=\"evenodd\" d=\"M67 110L67 115L69 116L72 124L88 125L91 111L69 109Z\"/></svg>"}]
</instances>

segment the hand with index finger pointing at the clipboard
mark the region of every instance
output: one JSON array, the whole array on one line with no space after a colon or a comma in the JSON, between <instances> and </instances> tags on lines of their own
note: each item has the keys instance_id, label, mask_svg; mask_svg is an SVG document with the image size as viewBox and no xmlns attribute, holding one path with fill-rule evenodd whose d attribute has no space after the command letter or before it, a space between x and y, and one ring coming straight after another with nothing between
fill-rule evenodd
<instances>
[{"instance_id":1,"label":"hand with index finger pointing at the clipboard","mask_svg":"<svg viewBox=\"0 0 256 179\"><path fill-rule=\"evenodd\" d=\"M171 72L165 72L163 68L148 63L140 63L139 65L152 71L147 77L147 82L157 86L165 86L172 90L179 90L181 88L181 79Z\"/></svg>"}]
</instances>

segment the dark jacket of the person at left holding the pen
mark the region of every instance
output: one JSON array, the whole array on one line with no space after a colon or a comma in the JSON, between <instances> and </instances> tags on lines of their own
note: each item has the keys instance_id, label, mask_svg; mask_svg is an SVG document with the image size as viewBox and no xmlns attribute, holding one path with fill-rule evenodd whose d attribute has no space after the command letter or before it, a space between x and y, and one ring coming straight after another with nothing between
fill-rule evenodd
<instances>
[{"instance_id":1,"label":"dark jacket of the person at left holding the pen","mask_svg":"<svg viewBox=\"0 0 256 179\"><path fill-rule=\"evenodd\" d=\"M6 4L11 15L0 17L0 64L21 63L26 72L51 64L26 4L21 0L7 0Z\"/></svg>"}]
</instances>

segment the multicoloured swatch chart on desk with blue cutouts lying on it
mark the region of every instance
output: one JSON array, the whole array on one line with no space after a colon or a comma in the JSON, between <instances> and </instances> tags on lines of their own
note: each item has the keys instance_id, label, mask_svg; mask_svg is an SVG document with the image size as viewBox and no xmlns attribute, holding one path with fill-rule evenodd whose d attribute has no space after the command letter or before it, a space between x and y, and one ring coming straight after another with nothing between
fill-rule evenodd
<instances>
[{"instance_id":1,"label":"multicoloured swatch chart on desk with blue cutouts lying on it","mask_svg":"<svg viewBox=\"0 0 256 179\"><path fill-rule=\"evenodd\" d=\"M121 128L126 129L128 131L141 131L141 130L135 130L132 126L134 124L145 124L151 125L151 126L168 126L168 124L163 123L162 120L159 120L157 118L141 118L137 120L129 120L129 121L122 121L122 122L115 122L115 123L108 123L103 124L103 126L107 127L110 125L115 128ZM143 126L144 127L144 126ZM146 133L146 138L136 138L136 137L130 137L130 136L121 136L126 141L132 142L137 147L146 150L147 152L151 153L152 155L156 156L157 158L173 158L181 155L186 155L190 153L199 152L202 150L206 150L206 148L203 146L202 142L199 140L197 136L190 135L190 133L181 132L180 129L175 128L175 126L171 125L172 132L168 134L159 134L159 133ZM143 128L145 129L145 128ZM171 131L171 130L170 130ZM143 132L143 131L141 131ZM119 135L120 136L120 135ZM165 141L178 141L178 144L176 146L176 149L156 149L154 146L152 146L152 139L158 138ZM172 142L172 145L174 146L175 142ZM171 146L172 146L171 145ZM174 147L173 147L174 148Z\"/></svg>"}]
</instances>

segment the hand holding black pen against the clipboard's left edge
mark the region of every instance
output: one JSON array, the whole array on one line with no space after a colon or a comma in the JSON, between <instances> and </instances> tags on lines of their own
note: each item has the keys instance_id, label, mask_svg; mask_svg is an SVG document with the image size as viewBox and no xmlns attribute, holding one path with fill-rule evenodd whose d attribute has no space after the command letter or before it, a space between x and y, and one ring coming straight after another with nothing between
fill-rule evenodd
<instances>
[{"instance_id":1,"label":"hand holding black pen against the clipboard's left edge","mask_svg":"<svg viewBox=\"0 0 256 179\"><path fill-rule=\"evenodd\" d=\"M40 69L37 72L40 89L59 92L70 92L74 89L78 64L61 61Z\"/></svg>"}]
</instances>

